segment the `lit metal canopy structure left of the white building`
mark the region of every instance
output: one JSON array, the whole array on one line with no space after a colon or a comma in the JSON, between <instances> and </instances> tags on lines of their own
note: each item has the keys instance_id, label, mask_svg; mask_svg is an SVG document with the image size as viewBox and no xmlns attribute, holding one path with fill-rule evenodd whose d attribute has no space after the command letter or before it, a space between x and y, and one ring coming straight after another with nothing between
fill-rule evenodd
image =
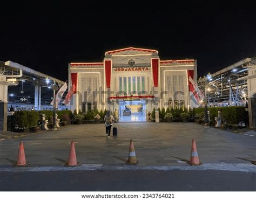
<instances>
[{"instance_id":1,"label":"lit metal canopy structure left of the white building","mask_svg":"<svg viewBox=\"0 0 256 200\"><path fill-rule=\"evenodd\" d=\"M13 105L23 109L51 108L50 102L53 96L51 85L56 82L61 87L65 83L12 61L0 61L0 74L4 75L7 81L17 84L8 88L8 106Z\"/></svg>"}]
</instances>

